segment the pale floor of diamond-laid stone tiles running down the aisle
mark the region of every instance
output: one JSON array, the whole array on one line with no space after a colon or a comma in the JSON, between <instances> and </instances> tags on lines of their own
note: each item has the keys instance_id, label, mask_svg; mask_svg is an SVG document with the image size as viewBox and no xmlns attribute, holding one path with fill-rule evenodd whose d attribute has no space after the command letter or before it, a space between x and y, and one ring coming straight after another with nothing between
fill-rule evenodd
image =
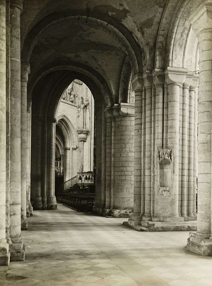
<instances>
[{"instance_id":1,"label":"pale floor of diamond-laid stone tiles running down the aisle","mask_svg":"<svg viewBox=\"0 0 212 286\"><path fill-rule=\"evenodd\" d=\"M212 257L186 250L188 232L137 232L126 219L58 205L23 231L24 262L0 267L0 286L212 285Z\"/></svg>"}]
</instances>

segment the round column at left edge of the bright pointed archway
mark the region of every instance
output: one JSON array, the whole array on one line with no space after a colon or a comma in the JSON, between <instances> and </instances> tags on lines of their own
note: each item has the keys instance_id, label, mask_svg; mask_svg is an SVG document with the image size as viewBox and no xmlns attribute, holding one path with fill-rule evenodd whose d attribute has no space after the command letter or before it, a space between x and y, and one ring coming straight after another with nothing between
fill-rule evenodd
<instances>
[{"instance_id":1,"label":"round column at left edge of the bright pointed archway","mask_svg":"<svg viewBox=\"0 0 212 286\"><path fill-rule=\"evenodd\" d=\"M48 122L48 186L47 209L57 209L55 197L55 123L56 118L47 118Z\"/></svg>"}]
</instances>

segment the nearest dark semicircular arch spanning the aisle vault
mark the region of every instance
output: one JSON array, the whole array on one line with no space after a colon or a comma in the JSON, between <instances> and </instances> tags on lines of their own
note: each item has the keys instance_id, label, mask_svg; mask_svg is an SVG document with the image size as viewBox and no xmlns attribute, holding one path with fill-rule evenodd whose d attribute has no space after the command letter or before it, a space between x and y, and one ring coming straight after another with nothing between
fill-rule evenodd
<instances>
[{"instance_id":1,"label":"nearest dark semicircular arch spanning the aisle vault","mask_svg":"<svg viewBox=\"0 0 212 286\"><path fill-rule=\"evenodd\" d=\"M39 34L51 23L59 22L60 19L76 19L80 17L85 21L92 21L98 25L98 29L107 29L110 36L114 38L114 41L118 41L121 48L129 55L131 66L133 67L134 73L143 71L142 60L146 59L147 48L144 45L145 41L135 40L128 29L123 26L119 21L108 17L107 15L91 11L89 17L85 16L87 12L80 10L67 10L59 11L48 15L45 19L41 20L23 39L21 44L21 60L29 62L31 52L36 44ZM142 38L142 36L141 36ZM139 45L137 44L139 41Z\"/></svg>"}]
</instances>

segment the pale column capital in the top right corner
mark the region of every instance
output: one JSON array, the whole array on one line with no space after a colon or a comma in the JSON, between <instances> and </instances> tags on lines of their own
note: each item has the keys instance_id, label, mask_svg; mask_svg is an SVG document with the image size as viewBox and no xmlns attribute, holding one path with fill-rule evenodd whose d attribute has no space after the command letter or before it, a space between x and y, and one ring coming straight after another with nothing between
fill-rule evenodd
<instances>
[{"instance_id":1,"label":"pale column capital in the top right corner","mask_svg":"<svg viewBox=\"0 0 212 286\"><path fill-rule=\"evenodd\" d=\"M194 12L188 21L192 24L196 35L203 30L212 29L212 1L204 0L198 7L194 7Z\"/></svg>"}]
</instances>

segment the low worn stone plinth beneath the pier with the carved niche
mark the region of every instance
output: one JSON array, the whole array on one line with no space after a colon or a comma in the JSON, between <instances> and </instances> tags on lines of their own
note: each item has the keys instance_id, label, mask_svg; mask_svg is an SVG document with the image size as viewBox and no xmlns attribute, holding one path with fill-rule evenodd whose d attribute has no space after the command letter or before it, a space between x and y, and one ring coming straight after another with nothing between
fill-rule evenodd
<instances>
[{"instance_id":1,"label":"low worn stone plinth beneath the pier with the carved niche","mask_svg":"<svg viewBox=\"0 0 212 286\"><path fill-rule=\"evenodd\" d=\"M183 218L180 218L183 219ZM141 221L149 231L196 231L197 221Z\"/></svg>"}]
</instances>

